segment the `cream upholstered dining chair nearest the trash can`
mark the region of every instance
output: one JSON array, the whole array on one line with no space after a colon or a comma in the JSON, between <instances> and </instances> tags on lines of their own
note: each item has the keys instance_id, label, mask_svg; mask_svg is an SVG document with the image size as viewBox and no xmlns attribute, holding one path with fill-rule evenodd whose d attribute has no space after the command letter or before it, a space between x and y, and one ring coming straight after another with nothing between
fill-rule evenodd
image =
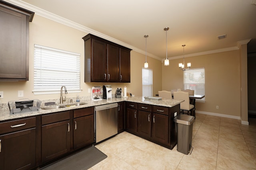
<instances>
[{"instance_id":1,"label":"cream upholstered dining chair nearest the trash can","mask_svg":"<svg viewBox=\"0 0 256 170\"><path fill-rule=\"evenodd\" d=\"M195 107L190 104L188 92L173 92L173 98L184 100L180 103L180 113L184 114L184 111L186 111L188 115L196 117Z\"/></svg>"}]
</instances>

